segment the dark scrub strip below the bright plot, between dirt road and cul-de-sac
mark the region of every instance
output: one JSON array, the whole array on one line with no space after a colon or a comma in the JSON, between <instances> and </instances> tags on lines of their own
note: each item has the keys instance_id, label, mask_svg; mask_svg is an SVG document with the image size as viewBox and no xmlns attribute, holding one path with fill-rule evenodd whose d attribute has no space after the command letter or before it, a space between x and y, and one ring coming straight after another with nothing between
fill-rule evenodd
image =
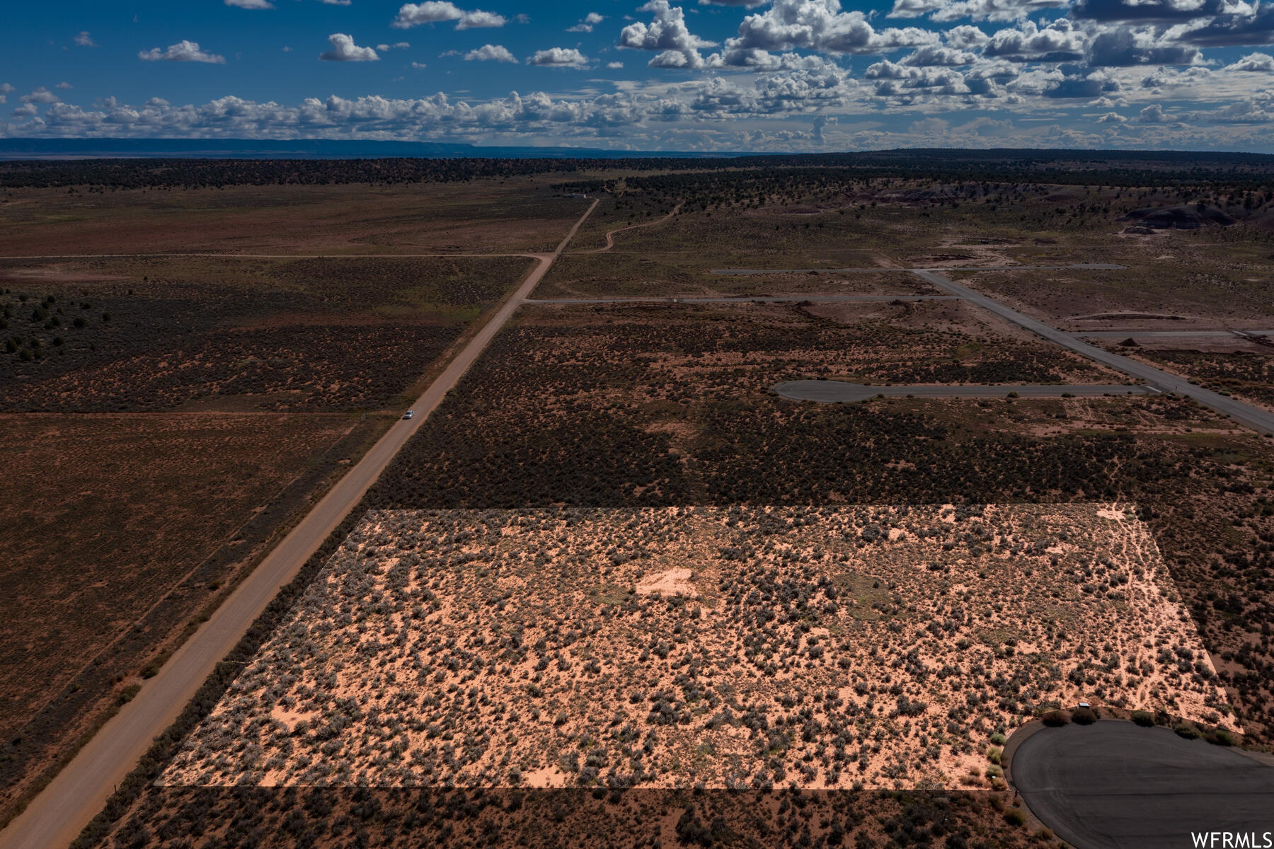
<instances>
[{"instance_id":1,"label":"dark scrub strip below the bright plot, between dirt road and cul-de-sac","mask_svg":"<svg viewBox=\"0 0 1274 849\"><path fill-rule=\"evenodd\" d=\"M583 779L581 779L583 780ZM149 788L112 846L829 849L1032 844L990 792ZM590 780L589 783L594 783ZM622 782L619 782L622 783ZM82 840L82 844L87 844Z\"/></svg>"}]
</instances>

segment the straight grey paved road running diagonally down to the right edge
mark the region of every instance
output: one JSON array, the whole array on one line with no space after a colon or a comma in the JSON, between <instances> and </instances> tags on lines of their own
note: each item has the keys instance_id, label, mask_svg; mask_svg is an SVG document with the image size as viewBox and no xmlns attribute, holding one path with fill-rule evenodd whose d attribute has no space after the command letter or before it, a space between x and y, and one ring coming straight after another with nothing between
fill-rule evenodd
<instances>
[{"instance_id":1,"label":"straight grey paved road running diagonally down to the right edge","mask_svg":"<svg viewBox=\"0 0 1274 849\"><path fill-rule=\"evenodd\" d=\"M1145 381L1157 389L1189 396L1199 403L1208 405L1213 410L1228 415L1235 421L1238 421L1252 430L1257 430L1260 433L1274 433L1274 412L1268 412L1260 407L1252 406L1251 403L1245 403L1243 401L1231 398L1218 392L1192 386L1182 377L1177 377L1176 374L1171 374L1163 369L1157 369L1153 365L1147 365L1145 363L1139 363L1130 356L1111 354L1110 351L1097 347L1096 345L1089 345L1088 342L1082 341L1078 336L1065 333L1056 327L1043 323L1042 321L1037 321L1029 316L1019 313L1017 309L1006 307L999 300L975 291L968 286L963 286L936 271L913 270L911 274L926 283L931 283L944 291L966 298L978 307L982 307L1001 318L1012 321L1019 327L1024 327L1034 333L1038 333L1040 336L1043 336L1051 342L1061 345L1063 347L1097 360L1105 365L1110 365L1111 368L1135 377L1139 381Z\"/></svg>"}]
</instances>

